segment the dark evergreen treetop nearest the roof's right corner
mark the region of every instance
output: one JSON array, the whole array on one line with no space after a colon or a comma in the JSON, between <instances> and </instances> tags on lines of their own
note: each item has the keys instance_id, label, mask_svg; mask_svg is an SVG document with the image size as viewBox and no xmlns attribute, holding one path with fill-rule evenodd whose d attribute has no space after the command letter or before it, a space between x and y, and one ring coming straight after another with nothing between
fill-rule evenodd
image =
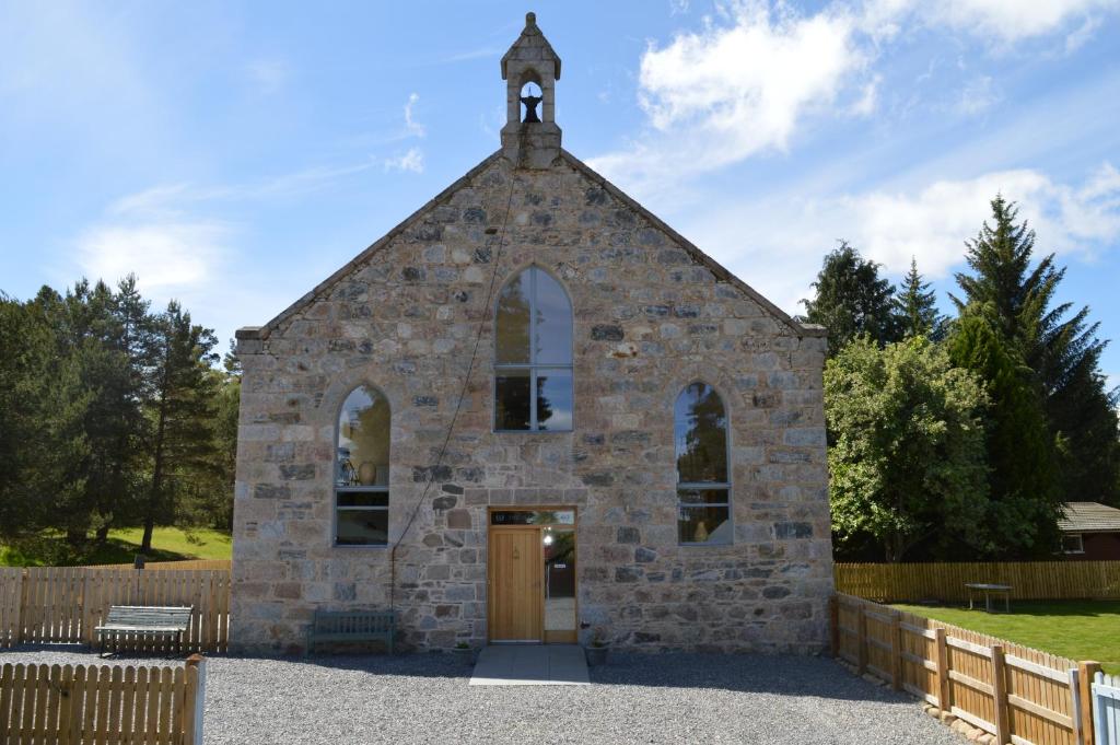
<instances>
[{"instance_id":1,"label":"dark evergreen treetop nearest the roof's right corner","mask_svg":"<svg viewBox=\"0 0 1120 745\"><path fill-rule=\"evenodd\" d=\"M804 320L828 329L830 356L862 334L880 346L899 338L895 288L879 277L879 264L864 260L847 241L824 257L813 287L816 297L802 300Z\"/></svg>"}]
</instances>

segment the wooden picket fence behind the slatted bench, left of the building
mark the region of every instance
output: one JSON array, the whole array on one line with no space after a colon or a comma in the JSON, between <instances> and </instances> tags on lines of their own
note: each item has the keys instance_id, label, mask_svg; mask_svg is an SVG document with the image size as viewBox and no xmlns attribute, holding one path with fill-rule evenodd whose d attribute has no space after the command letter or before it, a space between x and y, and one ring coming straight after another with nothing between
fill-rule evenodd
<instances>
[{"instance_id":1,"label":"wooden picket fence behind the slatted bench, left of the building","mask_svg":"<svg viewBox=\"0 0 1120 745\"><path fill-rule=\"evenodd\" d=\"M194 607L183 650L224 652L230 641L228 569L0 568L0 649L21 643L93 644L113 605ZM142 652L170 652L169 639L122 642Z\"/></svg>"}]
</instances>

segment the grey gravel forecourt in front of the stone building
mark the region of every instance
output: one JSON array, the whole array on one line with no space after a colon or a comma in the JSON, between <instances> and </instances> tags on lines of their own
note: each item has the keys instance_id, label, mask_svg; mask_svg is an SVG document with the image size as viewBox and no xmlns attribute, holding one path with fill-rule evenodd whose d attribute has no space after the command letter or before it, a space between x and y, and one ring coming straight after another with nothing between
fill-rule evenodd
<instances>
[{"instance_id":1,"label":"grey gravel forecourt in front of the stone building","mask_svg":"<svg viewBox=\"0 0 1120 745\"><path fill-rule=\"evenodd\" d=\"M96 658L25 649L0 662ZM515 688L469 687L470 668L438 654L213 656L207 669L208 745L964 742L827 659L615 653L591 686Z\"/></svg>"}]
</instances>

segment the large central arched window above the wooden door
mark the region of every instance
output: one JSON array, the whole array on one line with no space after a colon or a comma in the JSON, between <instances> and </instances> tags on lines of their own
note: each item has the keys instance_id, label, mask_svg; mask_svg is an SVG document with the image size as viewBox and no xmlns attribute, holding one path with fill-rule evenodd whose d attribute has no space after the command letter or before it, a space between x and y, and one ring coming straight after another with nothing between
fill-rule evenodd
<instances>
[{"instance_id":1,"label":"large central arched window above the wooden door","mask_svg":"<svg viewBox=\"0 0 1120 745\"><path fill-rule=\"evenodd\" d=\"M506 282L497 297L494 429L571 429L571 301L536 267Z\"/></svg>"}]
</instances>

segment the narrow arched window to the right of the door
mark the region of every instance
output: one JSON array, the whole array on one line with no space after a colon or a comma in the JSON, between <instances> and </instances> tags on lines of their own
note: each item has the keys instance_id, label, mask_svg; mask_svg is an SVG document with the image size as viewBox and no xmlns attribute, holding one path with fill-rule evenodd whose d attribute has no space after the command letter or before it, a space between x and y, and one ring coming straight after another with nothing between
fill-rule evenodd
<instances>
[{"instance_id":1,"label":"narrow arched window to the right of the door","mask_svg":"<svg viewBox=\"0 0 1120 745\"><path fill-rule=\"evenodd\" d=\"M673 407L676 536L681 543L731 542L727 409L711 385L689 383Z\"/></svg>"}]
</instances>

